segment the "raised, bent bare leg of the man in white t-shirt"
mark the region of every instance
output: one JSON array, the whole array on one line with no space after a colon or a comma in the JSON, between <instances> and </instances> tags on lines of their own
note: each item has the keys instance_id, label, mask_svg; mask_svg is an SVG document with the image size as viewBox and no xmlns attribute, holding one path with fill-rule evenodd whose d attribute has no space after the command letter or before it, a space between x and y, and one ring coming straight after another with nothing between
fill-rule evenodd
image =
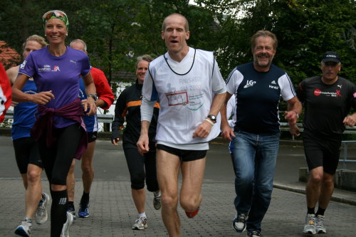
<instances>
[{"instance_id":1,"label":"raised, bent bare leg of the man in white t-shirt","mask_svg":"<svg viewBox=\"0 0 356 237\"><path fill-rule=\"evenodd\" d=\"M201 184L204 178L205 157L182 163L182 189L180 204L185 211L192 212L201 203Z\"/></svg>"}]
</instances>

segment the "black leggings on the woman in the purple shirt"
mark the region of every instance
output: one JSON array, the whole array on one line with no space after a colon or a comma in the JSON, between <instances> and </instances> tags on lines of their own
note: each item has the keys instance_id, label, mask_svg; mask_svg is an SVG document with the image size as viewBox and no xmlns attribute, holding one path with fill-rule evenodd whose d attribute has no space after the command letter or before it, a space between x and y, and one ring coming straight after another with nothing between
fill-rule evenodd
<instances>
[{"instance_id":1,"label":"black leggings on the woman in the purple shirt","mask_svg":"<svg viewBox=\"0 0 356 237\"><path fill-rule=\"evenodd\" d=\"M39 152L50 184L66 185L70 164L77 151L82 128L78 123L68 127L53 127L51 147L46 146L46 131L39 139Z\"/></svg>"}]
</instances>

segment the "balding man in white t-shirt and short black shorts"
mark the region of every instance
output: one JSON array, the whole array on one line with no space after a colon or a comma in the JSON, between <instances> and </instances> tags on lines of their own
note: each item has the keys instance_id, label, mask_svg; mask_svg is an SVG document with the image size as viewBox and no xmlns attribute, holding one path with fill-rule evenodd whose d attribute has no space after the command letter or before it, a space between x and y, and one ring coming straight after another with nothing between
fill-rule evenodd
<instances>
[{"instance_id":1,"label":"balding man in white t-shirt and short black shorts","mask_svg":"<svg viewBox=\"0 0 356 237\"><path fill-rule=\"evenodd\" d=\"M147 130L159 100L157 179L162 191L162 219L169 236L180 236L178 199L189 218L199 211L209 141L220 132L219 110L226 87L214 54L187 46L187 19L167 16L162 39L168 52L150 63L142 88L140 152L148 152ZM178 198L178 176L182 188Z\"/></svg>"}]
</instances>

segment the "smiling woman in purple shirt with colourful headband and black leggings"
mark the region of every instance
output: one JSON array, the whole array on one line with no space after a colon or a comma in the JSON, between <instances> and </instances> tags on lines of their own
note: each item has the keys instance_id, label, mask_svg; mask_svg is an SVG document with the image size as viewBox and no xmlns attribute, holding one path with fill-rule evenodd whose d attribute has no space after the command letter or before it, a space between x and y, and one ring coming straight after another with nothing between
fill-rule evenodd
<instances>
[{"instance_id":1,"label":"smiling woman in purple shirt with colourful headband and black leggings","mask_svg":"<svg viewBox=\"0 0 356 237\"><path fill-rule=\"evenodd\" d=\"M88 115L96 112L95 85L88 56L65 44L67 15L54 10L46 12L42 19L49 45L33 51L20 65L13 97L18 102L38 104L31 135L38 141L43 167L51 184L51 237L68 236L73 216L67 212L66 177L73 157L80 156L87 145L82 116L85 112ZM84 110L78 99L80 76L88 93ZM21 91L28 78L36 83L37 94Z\"/></svg>"}]
</instances>

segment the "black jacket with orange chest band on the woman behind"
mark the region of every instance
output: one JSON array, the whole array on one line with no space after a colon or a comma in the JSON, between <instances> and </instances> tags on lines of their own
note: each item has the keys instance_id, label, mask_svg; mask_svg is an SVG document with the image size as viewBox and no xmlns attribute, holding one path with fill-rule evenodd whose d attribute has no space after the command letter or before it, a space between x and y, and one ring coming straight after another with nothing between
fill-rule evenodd
<instances>
[{"instance_id":1,"label":"black jacket with orange chest band on the woman behind","mask_svg":"<svg viewBox=\"0 0 356 237\"><path fill-rule=\"evenodd\" d=\"M120 130L126 127L123 132L122 145L135 146L140 137L141 130L141 102L142 102L142 85L136 83L122 91L115 105L115 118L112 122L112 137L111 139L120 138ZM159 114L159 103L155 104L152 120L148 136L150 145L155 145L155 136L157 128L157 119Z\"/></svg>"}]
</instances>

